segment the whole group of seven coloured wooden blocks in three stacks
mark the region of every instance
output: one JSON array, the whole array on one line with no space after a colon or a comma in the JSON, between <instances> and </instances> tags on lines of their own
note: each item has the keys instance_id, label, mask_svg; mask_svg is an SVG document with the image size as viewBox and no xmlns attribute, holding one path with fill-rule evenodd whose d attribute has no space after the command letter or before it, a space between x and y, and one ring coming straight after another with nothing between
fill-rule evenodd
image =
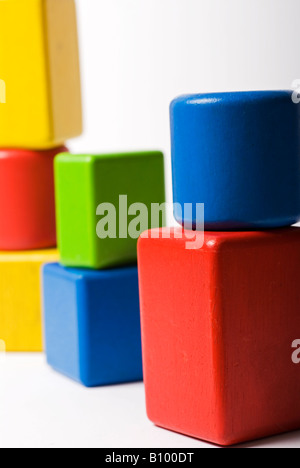
<instances>
[{"instance_id":1,"label":"whole group of seven coloured wooden blocks in three stacks","mask_svg":"<svg viewBox=\"0 0 300 468\"><path fill-rule=\"evenodd\" d=\"M220 445L298 429L291 345L300 330L300 229L290 226L300 220L300 108L292 93L172 103L183 228L168 235L163 217L151 220L152 204L165 201L162 153L66 152L65 140L82 130L74 0L2 0L0 43L0 350L42 350L46 263L48 363L88 387L141 380L136 244L151 224L159 230L143 234L138 249L149 418ZM201 210L187 215L186 203L204 203L204 233ZM49 263L58 260L56 226L60 263ZM187 249L189 230L201 248Z\"/></svg>"}]
</instances>

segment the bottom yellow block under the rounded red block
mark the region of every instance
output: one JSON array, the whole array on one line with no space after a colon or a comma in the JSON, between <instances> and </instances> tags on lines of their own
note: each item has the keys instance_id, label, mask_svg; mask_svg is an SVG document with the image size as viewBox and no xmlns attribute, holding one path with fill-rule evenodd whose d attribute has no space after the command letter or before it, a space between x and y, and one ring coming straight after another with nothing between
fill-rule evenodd
<instances>
[{"instance_id":1,"label":"bottom yellow block under the rounded red block","mask_svg":"<svg viewBox=\"0 0 300 468\"><path fill-rule=\"evenodd\" d=\"M0 252L0 341L6 351L42 351L41 265L56 250Z\"/></svg>"}]
</instances>

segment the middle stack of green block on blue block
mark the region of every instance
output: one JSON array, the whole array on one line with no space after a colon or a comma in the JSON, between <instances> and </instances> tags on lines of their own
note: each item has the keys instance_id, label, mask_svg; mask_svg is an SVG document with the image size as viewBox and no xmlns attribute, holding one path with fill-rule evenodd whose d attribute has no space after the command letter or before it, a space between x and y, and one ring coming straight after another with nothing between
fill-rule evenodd
<instances>
[{"instance_id":1,"label":"middle stack of green block on blue block","mask_svg":"<svg viewBox=\"0 0 300 468\"><path fill-rule=\"evenodd\" d=\"M48 363L87 387L142 380L137 238L165 200L163 154L61 154L55 191L61 264L43 274Z\"/></svg>"}]
</instances>

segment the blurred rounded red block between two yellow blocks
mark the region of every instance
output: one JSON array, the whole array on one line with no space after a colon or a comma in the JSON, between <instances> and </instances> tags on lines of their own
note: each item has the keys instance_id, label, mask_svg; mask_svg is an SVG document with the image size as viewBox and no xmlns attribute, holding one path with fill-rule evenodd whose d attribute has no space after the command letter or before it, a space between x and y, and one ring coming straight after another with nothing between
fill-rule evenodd
<instances>
[{"instance_id":1,"label":"blurred rounded red block between two yellow blocks","mask_svg":"<svg viewBox=\"0 0 300 468\"><path fill-rule=\"evenodd\" d=\"M0 150L0 250L56 246L54 157L63 151Z\"/></svg>"}]
</instances>

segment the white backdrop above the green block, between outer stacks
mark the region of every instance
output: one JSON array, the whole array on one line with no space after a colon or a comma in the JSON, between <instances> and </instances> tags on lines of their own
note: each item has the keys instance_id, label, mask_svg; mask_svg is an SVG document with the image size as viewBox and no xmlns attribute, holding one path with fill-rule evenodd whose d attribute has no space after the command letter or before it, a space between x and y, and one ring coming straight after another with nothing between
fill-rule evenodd
<instances>
[{"instance_id":1,"label":"white backdrop above the green block, between outer stacks","mask_svg":"<svg viewBox=\"0 0 300 468\"><path fill-rule=\"evenodd\" d=\"M289 89L299 0L77 0L84 135L75 152L162 149L186 93Z\"/></svg>"}]
</instances>

